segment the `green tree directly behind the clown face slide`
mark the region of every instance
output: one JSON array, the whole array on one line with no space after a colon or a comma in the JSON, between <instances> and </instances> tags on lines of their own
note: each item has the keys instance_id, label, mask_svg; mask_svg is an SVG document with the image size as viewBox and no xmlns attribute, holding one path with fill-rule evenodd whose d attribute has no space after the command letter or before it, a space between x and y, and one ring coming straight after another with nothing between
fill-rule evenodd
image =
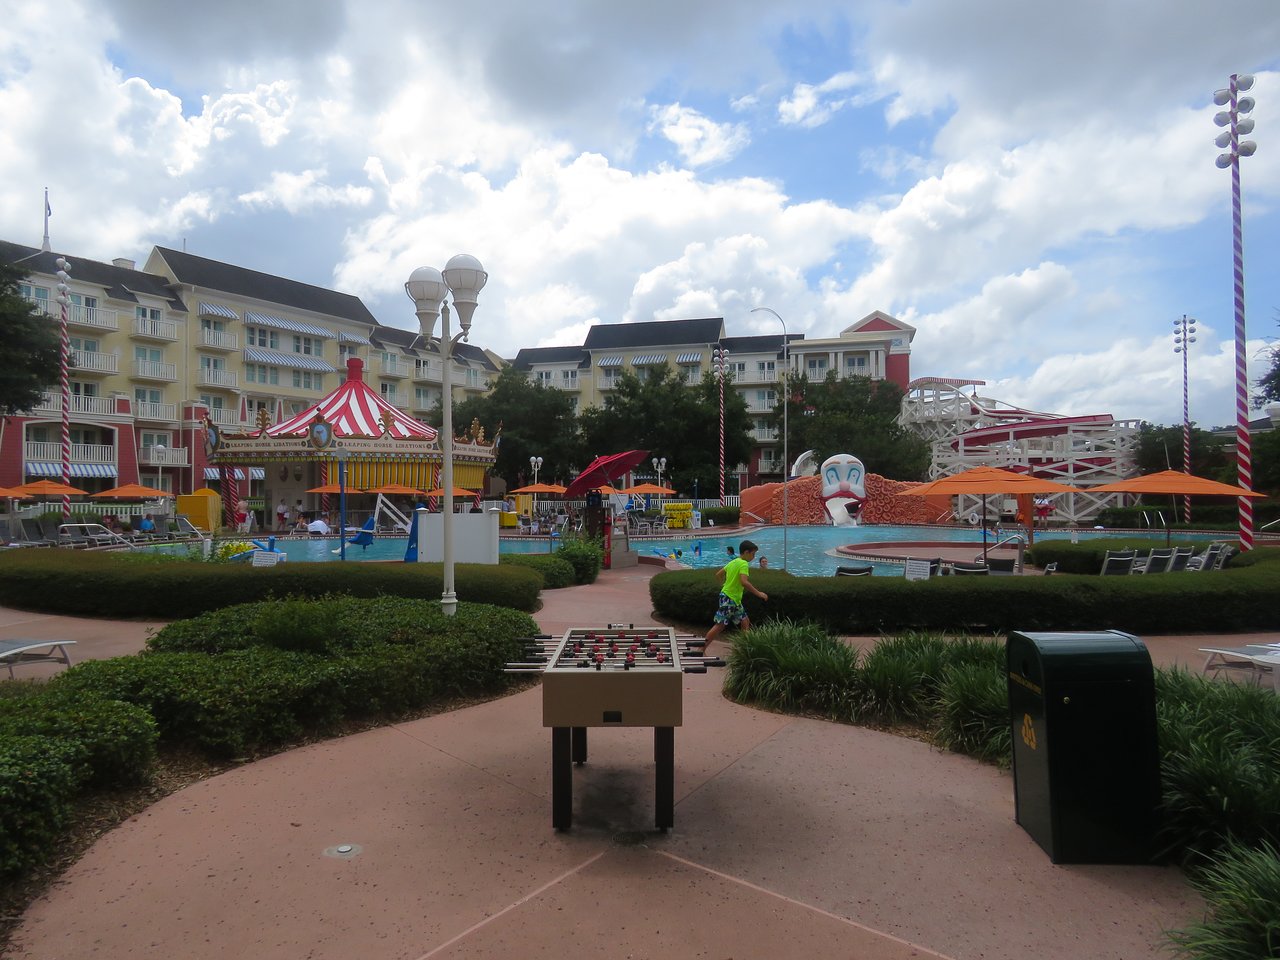
<instances>
[{"instance_id":1,"label":"green tree directly behind the clown face slide","mask_svg":"<svg viewBox=\"0 0 1280 960\"><path fill-rule=\"evenodd\" d=\"M897 424L902 389L891 380L869 376L837 378L827 372L813 383L804 374L791 379L787 394L792 457L812 449L818 462L835 453L850 453L869 474L893 480L924 480L929 444ZM782 408L773 422L782 429Z\"/></svg>"}]
</instances>

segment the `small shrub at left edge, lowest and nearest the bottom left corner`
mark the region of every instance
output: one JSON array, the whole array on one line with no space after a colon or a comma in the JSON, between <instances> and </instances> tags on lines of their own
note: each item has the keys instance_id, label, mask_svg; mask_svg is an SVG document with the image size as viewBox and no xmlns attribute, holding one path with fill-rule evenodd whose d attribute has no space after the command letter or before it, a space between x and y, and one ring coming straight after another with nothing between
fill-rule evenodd
<instances>
[{"instance_id":1,"label":"small shrub at left edge, lowest and nearest the bottom left corner","mask_svg":"<svg viewBox=\"0 0 1280 960\"><path fill-rule=\"evenodd\" d=\"M0 874L41 863L70 815L78 762L73 744L0 737Z\"/></svg>"}]
</instances>

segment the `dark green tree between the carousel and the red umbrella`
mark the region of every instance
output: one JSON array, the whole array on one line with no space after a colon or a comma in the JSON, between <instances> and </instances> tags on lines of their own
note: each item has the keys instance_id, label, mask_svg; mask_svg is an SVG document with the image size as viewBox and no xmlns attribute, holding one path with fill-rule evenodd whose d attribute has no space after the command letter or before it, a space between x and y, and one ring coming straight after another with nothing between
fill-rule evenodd
<instances>
[{"instance_id":1,"label":"dark green tree between the carousel and the red umbrella","mask_svg":"<svg viewBox=\"0 0 1280 960\"><path fill-rule=\"evenodd\" d=\"M502 425L498 460L494 476L500 476L511 488L522 486L534 477L529 470L530 457L544 462L539 480L568 483L570 468L581 467L582 445L577 435L573 401L563 390L530 383L529 376L506 367L485 397L468 397L453 408L453 428L465 430L472 420L479 420L488 436ZM433 422L439 426L439 411L433 411Z\"/></svg>"}]
</instances>

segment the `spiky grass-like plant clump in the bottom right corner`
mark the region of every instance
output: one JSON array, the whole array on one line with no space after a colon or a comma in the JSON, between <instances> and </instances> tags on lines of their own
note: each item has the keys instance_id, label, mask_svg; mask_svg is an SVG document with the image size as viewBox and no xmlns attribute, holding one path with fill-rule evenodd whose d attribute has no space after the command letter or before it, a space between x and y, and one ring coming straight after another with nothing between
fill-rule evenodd
<instances>
[{"instance_id":1,"label":"spiky grass-like plant clump in the bottom right corner","mask_svg":"<svg viewBox=\"0 0 1280 960\"><path fill-rule=\"evenodd\" d=\"M1192 873L1206 919L1170 933L1174 950L1197 960L1280 956L1280 854L1263 844L1231 844L1216 863Z\"/></svg>"}]
</instances>

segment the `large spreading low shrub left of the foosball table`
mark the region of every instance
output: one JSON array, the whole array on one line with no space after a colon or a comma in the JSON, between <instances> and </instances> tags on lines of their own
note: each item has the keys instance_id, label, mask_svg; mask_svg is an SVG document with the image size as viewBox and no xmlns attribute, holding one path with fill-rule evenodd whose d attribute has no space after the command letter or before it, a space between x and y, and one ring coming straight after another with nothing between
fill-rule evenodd
<instances>
[{"instance_id":1,"label":"large spreading low shrub left of the foosball table","mask_svg":"<svg viewBox=\"0 0 1280 960\"><path fill-rule=\"evenodd\" d=\"M291 634L293 621L305 628ZM242 756L346 718L500 689L520 637L536 632L527 614L470 603L445 617L435 600L266 602L172 623L146 653L77 664L49 686L137 704L165 741Z\"/></svg>"}]
</instances>

